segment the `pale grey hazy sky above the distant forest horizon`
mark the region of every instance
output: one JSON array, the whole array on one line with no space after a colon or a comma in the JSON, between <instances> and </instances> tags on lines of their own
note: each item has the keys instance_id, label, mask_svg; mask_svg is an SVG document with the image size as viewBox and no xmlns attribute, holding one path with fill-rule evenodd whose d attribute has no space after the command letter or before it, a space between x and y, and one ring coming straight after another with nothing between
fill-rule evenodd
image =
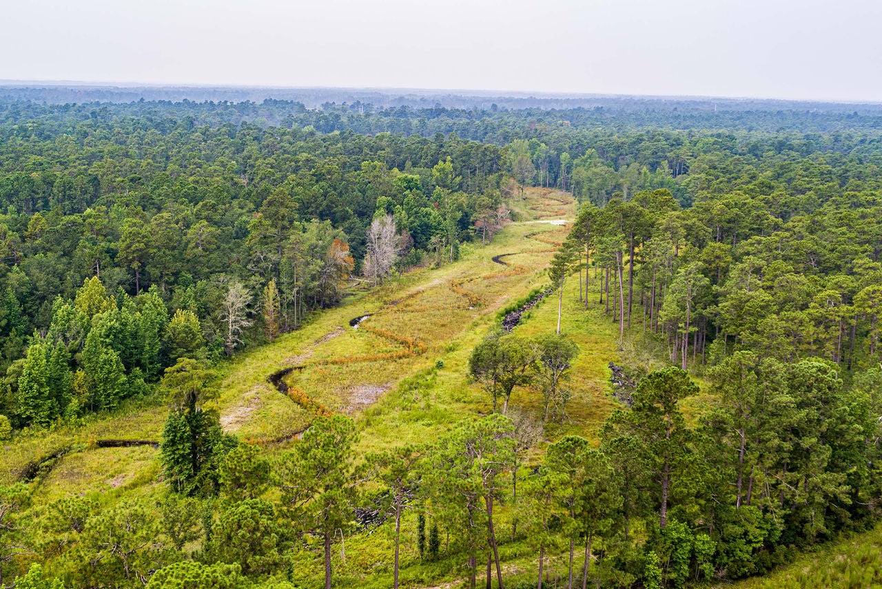
<instances>
[{"instance_id":1,"label":"pale grey hazy sky above the distant forest horizon","mask_svg":"<svg viewBox=\"0 0 882 589\"><path fill-rule=\"evenodd\" d=\"M4 0L0 78L882 101L878 0Z\"/></svg>"}]
</instances>

